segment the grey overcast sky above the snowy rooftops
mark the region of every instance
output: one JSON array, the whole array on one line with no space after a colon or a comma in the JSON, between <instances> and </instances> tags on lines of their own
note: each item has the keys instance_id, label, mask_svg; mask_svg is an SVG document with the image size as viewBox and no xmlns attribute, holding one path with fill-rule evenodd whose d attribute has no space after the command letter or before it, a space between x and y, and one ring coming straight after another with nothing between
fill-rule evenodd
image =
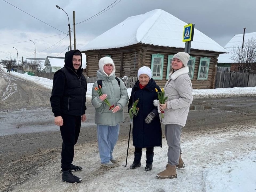
<instances>
[{"instance_id":1,"label":"grey overcast sky above the snowy rooftops","mask_svg":"<svg viewBox=\"0 0 256 192\"><path fill-rule=\"evenodd\" d=\"M22 56L24 59L34 58L35 45L29 39L36 44L36 58L64 57L69 45L68 17L55 5L59 5L69 16L73 44L73 11L75 11L76 23L79 23L99 13L115 1L0 0L0 59L10 59L11 53L12 59L17 60L17 51L13 47L18 50L19 60ZM162 9L184 22L195 23L196 29L221 46L225 46L234 35L242 34L244 27L246 33L256 31L253 21L255 0L117 0L113 5L99 16L76 24L76 49L127 17L144 14L154 9Z\"/></svg>"}]
</instances>

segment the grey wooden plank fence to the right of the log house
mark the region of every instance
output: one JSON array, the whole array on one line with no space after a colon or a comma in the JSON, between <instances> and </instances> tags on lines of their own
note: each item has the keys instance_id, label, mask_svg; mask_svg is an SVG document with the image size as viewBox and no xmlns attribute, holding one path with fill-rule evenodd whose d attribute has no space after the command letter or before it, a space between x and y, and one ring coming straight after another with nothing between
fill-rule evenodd
<instances>
[{"instance_id":1,"label":"grey wooden plank fence to the right of the log house","mask_svg":"<svg viewBox=\"0 0 256 192\"><path fill-rule=\"evenodd\" d=\"M215 76L215 88L227 87L255 87L256 74L217 71Z\"/></svg>"}]
</instances>

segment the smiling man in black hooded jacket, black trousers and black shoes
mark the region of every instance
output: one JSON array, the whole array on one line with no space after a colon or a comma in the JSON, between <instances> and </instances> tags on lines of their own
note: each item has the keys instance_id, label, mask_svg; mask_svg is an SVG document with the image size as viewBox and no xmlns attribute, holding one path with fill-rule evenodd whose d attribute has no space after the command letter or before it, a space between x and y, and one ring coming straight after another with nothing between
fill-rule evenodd
<instances>
[{"instance_id":1,"label":"smiling man in black hooded jacket, black trousers and black shoes","mask_svg":"<svg viewBox=\"0 0 256 192\"><path fill-rule=\"evenodd\" d=\"M78 140L81 121L86 120L85 101L87 83L82 69L82 53L71 50L65 54L65 65L55 72L50 98L54 124L60 126L62 137L61 168L62 180L81 182L71 171L82 167L73 165L74 145Z\"/></svg>"}]
</instances>

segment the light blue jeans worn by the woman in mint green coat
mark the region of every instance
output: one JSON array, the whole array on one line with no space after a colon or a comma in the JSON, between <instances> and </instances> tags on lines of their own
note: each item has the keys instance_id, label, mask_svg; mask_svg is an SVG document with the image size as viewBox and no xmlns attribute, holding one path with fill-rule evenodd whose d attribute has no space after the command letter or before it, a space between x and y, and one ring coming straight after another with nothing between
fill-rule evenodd
<instances>
[{"instance_id":1,"label":"light blue jeans worn by the woman in mint green coat","mask_svg":"<svg viewBox=\"0 0 256 192\"><path fill-rule=\"evenodd\" d=\"M100 163L105 164L112 159L112 153L118 140L119 124L116 126L97 125Z\"/></svg>"}]
</instances>

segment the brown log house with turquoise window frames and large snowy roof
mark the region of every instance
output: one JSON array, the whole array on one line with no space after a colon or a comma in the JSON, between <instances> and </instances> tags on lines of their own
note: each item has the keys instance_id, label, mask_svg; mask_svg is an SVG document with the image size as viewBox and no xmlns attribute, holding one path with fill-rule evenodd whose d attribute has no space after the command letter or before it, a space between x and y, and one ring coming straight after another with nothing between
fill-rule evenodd
<instances>
[{"instance_id":1,"label":"brown log house with turquoise window frames and large snowy roof","mask_svg":"<svg viewBox=\"0 0 256 192\"><path fill-rule=\"evenodd\" d=\"M96 75L100 58L109 56L115 62L116 76L137 76L140 67L148 66L153 79L163 86L173 55L184 51L184 25L187 23L160 9L127 18L80 49L86 54L87 75ZM214 88L220 53L227 51L195 29L188 62L194 88Z\"/></svg>"}]
</instances>

